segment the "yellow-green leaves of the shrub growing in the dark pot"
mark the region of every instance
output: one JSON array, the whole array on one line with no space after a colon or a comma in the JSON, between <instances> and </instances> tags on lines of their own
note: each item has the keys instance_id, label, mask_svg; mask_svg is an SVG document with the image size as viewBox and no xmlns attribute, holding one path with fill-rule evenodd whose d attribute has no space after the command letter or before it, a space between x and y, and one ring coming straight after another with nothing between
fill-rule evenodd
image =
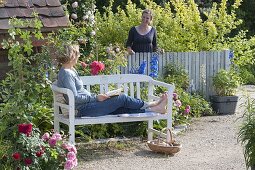
<instances>
[{"instance_id":1,"label":"yellow-green leaves of the shrub growing in the dark pot","mask_svg":"<svg viewBox=\"0 0 255 170\"><path fill-rule=\"evenodd\" d=\"M213 86L219 96L234 95L239 84L240 78L233 69L229 71L221 69L213 76Z\"/></svg>"}]
</instances>

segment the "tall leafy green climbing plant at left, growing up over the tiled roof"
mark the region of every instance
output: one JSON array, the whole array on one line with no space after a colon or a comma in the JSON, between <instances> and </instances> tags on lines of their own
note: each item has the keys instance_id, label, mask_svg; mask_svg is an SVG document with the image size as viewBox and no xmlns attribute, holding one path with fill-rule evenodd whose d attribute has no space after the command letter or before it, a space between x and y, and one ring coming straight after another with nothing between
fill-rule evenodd
<instances>
[{"instance_id":1,"label":"tall leafy green climbing plant at left, growing up over the tiled roof","mask_svg":"<svg viewBox=\"0 0 255 170\"><path fill-rule=\"evenodd\" d=\"M0 106L0 133L3 140L15 139L17 136L12 132L16 125L33 121L33 117L34 120L38 119L35 111L43 107L45 109L41 114L45 116L44 122L48 124L47 127L52 126L52 115L49 114L52 113L52 98L49 98L52 92L48 79L52 72L51 59L44 49L33 48L32 40L44 39L40 31L42 23L34 15L31 20L12 19L9 37L2 42L3 48L9 50L8 59L12 67L0 86L0 98L4 102ZM33 29L25 30L22 27ZM40 51L42 53L38 53ZM42 122L40 124L43 127Z\"/></svg>"}]
</instances>

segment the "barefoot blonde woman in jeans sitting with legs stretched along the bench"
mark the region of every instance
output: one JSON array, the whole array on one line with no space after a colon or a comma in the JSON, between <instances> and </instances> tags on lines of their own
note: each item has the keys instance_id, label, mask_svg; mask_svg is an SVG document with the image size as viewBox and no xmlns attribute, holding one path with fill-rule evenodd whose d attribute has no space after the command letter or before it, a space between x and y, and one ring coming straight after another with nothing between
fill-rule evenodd
<instances>
[{"instance_id":1,"label":"barefoot blonde woman in jeans sitting with legs stretched along the bench","mask_svg":"<svg viewBox=\"0 0 255 170\"><path fill-rule=\"evenodd\" d=\"M140 99L121 94L108 97L106 94L92 94L83 87L74 66L80 57L78 45L64 46L63 52L59 52L57 59L62 65L58 73L57 85L70 89L75 98L77 116L104 116L109 114L123 114L132 112L145 112L145 110L165 113L167 94L163 94L158 101L144 102ZM66 99L67 97L64 96Z\"/></svg>"}]
</instances>

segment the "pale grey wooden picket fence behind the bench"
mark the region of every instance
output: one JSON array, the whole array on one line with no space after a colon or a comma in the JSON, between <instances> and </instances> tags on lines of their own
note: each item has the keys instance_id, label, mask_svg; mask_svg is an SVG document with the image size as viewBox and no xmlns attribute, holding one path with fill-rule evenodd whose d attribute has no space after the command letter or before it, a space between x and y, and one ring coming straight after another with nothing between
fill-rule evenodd
<instances>
[{"instance_id":1,"label":"pale grey wooden picket fence behind the bench","mask_svg":"<svg viewBox=\"0 0 255 170\"><path fill-rule=\"evenodd\" d=\"M158 56L158 73L162 76L167 64L181 65L190 78L190 90L202 94L207 100L214 94L212 76L220 69L229 69L229 50L201 52L166 52ZM128 56L127 67L121 68L122 74L132 72L146 61L145 74L149 75L153 53L136 53Z\"/></svg>"}]
</instances>

